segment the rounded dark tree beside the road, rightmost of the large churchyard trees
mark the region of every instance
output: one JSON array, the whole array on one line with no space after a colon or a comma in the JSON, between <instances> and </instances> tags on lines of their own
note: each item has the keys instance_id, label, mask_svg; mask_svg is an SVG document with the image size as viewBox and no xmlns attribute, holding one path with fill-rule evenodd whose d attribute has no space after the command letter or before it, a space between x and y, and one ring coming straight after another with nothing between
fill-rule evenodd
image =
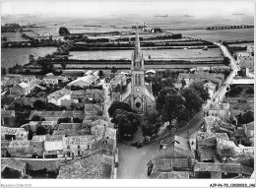
<instances>
[{"instance_id":1,"label":"rounded dark tree beside the road, rightmost of the large churchyard trees","mask_svg":"<svg viewBox=\"0 0 256 188\"><path fill-rule=\"evenodd\" d=\"M193 89L186 88L181 91L181 95L186 98L186 109L190 112L190 116L198 112L203 104L201 96Z\"/></svg>"}]
</instances>

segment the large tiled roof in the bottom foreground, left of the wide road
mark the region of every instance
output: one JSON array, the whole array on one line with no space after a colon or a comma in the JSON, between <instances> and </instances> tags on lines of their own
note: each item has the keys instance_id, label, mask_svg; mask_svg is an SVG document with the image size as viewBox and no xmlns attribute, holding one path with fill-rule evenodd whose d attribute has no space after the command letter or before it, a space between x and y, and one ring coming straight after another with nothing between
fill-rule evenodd
<instances>
[{"instance_id":1,"label":"large tiled roof in the bottom foreground, left of the wide road","mask_svg":"<svg viewBox=\"0 0 256 188\"><path fill-rule=\"evenodd\" d=\"M57 179L110 179L113 159L102 154L82 158L61 166Z\"/></svg>"}]
</instances>

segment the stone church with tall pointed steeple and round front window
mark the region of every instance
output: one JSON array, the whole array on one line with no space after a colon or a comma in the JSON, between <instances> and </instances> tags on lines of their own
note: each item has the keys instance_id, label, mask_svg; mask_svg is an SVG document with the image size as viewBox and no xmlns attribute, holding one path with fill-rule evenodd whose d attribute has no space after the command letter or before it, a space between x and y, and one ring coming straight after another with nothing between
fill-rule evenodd
<instances>
[{"instance_id":1,"label":"stone church with tall pointed steeple and round front window","mask_svg":"<svg viewBox=\"0 0 256 188\"><path fill-rule=\"evenodd\" d=\"M134 52L131 58L131 82L126 86L115 85L112 94L119 101L125 102L139 113L155 111L156 100L152 93L152 85L145 82L144 58L140 47L138 29L136 31ZM115 99L114 99L115 100Z\"/></svg>"}]
</instances>

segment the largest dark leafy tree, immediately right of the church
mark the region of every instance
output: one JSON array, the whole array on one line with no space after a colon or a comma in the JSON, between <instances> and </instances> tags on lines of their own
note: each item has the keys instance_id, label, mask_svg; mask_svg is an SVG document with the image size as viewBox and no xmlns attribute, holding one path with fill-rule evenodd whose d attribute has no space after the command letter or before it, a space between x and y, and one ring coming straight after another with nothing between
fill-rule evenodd
<instances>
[{"instance_id":1,"label":"largest dark leafy tree, immediately right of the church","mask_svg":"<svg viewBox=\"0 0 256 188\"><path fill-rule=\"evenodd\" d=\"M157 98L157 110L160 112L162 120L168 121L169 125L172 125L172 120L176 119L184 110L185 102L185 98L176 89L163 88Z\"/></svg>"}]
</instances>

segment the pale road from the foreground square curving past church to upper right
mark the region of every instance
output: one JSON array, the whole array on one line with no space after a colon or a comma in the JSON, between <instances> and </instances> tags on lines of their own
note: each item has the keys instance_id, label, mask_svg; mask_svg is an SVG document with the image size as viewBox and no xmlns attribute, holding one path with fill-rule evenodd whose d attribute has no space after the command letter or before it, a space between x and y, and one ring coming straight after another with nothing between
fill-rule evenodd
<instances>
[{"instance_id":1,"label":"pale road from the foreground square curving past church to upper right","mask_svg":"<svg viewBox=\"0 0 256 188\"><path fill-rule=\"evenodd\" d=\"M224 56L230 59L230 67L232 69L231 74L224 82L224 86L220 88L217 94L214 96L217 100L223 100L226 88L232 82L233 77L240 70L239 65L231 57L228 50L224 45L216 43L220 46L224 52ZM210 105L210 101L206 106ZM205 107L206 107L205 106ZM204 112L200 111L186 126L184 129L178 130L175 134L184 138L187 138L190 134L197 131L204 122ZM170 137L172 135L168 135ZM166 138L167 138L166 137ZM149 178L147 175L147 163L156 154L160 145L160 141L144 145L141 149L119 144L119 166L117 178L121 179L146 179Z\"/></svg>"}]
</instances>

